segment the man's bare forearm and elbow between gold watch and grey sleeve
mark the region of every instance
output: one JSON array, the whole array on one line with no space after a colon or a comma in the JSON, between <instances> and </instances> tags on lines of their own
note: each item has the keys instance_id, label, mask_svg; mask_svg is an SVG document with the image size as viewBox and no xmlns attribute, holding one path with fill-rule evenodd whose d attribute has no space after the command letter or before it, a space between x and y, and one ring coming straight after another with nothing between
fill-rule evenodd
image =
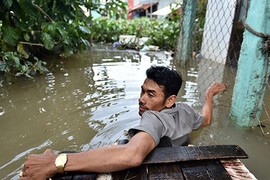
<instances>
[{"instance_id":1,"label":"man's bare forearm and elbow between gold watch and grey sleeve","mask_svg":"<svg viewBox=\"0 0 270 180\"><path fill-rule=\"evenodd\" d=\"M80 155L70 154L69 159L71 161L67 164L65 170L113 172L136 167L142 163L155 146L152 136L145 132L139 132L125 145L113 145L94 149ZM87 163L88 161L91 163Z\"/></svg>"}]
</instances>

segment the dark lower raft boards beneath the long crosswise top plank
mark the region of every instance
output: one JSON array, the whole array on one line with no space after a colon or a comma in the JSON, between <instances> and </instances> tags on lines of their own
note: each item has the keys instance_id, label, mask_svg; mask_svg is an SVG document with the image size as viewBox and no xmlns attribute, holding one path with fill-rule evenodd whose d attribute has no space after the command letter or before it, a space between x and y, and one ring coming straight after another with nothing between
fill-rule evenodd
<instances>
[{"instance_id":1,"label":"dark lower raft boards beneath the long crosswise top plank","mask_svg":"<svg viewBox=\"0 0 270 180\"><path fill-rule=\"evenodd\" d=\"M139 168L115 172L113 173L113 179L227 180L231 177L219 160L202 160L142 165Z\"/></svg>"}]
</instances>

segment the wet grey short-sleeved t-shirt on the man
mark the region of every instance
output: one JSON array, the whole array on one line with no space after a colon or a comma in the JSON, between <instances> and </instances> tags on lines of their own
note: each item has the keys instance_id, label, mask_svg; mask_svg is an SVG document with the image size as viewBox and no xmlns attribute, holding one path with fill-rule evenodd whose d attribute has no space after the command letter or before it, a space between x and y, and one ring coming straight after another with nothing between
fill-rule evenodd
<instances>
[{"instance_id":1,"label":"wet grey short-sleeved t-shirt on the man","mask_svg":"<svg viewBox=\"0 0 270 180\"><path fill-rule=\"evenodd\" d=\"M189 105L179 102L171 109L145 111L138 126L129 129L133 136L138 131L149 133L159 144L160 138L167 136L173 146L181 146L188 140L189 133L198 129L202 124L203 116Z\"/></svg>"}]
</instances>

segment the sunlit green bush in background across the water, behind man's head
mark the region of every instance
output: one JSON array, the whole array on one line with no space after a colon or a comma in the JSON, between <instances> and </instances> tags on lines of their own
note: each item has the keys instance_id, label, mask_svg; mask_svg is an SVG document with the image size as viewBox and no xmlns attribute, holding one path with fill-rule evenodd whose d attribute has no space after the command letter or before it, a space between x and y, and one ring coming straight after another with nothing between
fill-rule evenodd
<instances>
[{"instance_id":1,"label":"sunlit green bush in background across the water, behind man's head","mask_svg":"<svg viewBox=\"0 0 270 180\"><path fill-rule=\"evenodd\" d=\"M148 44L161 49L175 47L179 34L179 20L137 18L132 20L97 18L93 21L92 38L94 42L112 43L119 40L120 35L148 37Z\"/></svg>"}]
</instances>

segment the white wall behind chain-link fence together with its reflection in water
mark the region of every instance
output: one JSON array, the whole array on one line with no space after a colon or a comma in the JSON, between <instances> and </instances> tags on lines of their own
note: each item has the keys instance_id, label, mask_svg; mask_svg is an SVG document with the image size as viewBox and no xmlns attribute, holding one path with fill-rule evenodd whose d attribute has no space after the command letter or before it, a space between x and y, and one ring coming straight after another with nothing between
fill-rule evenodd
<instances>
[{"instance_id":1,"label":"white wall behind chain-link fence together with its reflection in water","mask_svg":"<svg viewBox=\"0 0 270 180\"><path fill-rule=\"evenodd\" d=\"M226 78L225 64L235 17L236 0L208 0L199 63L198 94Z\"/></svg>"}]
</instances>

